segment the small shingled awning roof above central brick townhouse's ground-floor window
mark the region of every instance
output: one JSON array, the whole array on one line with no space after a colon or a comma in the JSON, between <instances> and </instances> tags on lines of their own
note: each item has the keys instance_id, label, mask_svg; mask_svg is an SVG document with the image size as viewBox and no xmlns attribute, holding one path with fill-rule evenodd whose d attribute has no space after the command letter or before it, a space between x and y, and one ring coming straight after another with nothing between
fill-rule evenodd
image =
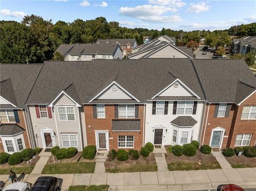
<instances>
[{"instance_id":1,"label":"small shingled awning roof above central brick townhouse's ground-floor window","mask_svg":"<svg viewBox=\"0 0 256 191\"><path fill-rule=\"evenodd\" d=\"M112 120L113 131L140 131L139 119L113 119Z\"/></svg>"}]
</instances>

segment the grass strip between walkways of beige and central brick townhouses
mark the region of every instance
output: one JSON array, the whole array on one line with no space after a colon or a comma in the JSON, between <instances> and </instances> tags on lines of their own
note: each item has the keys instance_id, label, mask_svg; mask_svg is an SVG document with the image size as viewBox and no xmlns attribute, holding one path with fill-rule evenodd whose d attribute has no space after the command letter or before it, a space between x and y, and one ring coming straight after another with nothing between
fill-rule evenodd
<instances>
[{"instance_id":1,"label":"grass strip between walkways of beige and central brick townhouses","mask_svg":"<svg viewBox=\"0 0 256 191\"><path fill-rule=\"evenodd\" d=\"M63 162L46 164L43 174L93 173L95 162Z\"/></svg>"}]
</instances>

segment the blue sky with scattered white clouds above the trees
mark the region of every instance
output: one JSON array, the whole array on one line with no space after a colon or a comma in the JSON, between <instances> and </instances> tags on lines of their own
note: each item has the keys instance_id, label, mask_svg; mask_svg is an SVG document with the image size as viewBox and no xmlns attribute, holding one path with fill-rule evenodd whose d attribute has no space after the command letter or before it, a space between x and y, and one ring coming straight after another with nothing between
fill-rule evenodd
<instances>
[{"instance_id":1,"label":"blue sky with scattered white clouds above the trees","mask_svg":"<svg viewBox=\"0 0 256 191\"><path fill-rule=\"evenodd\" d=\"M256 1L0 1L0 19L21 21L24 15L72 22L104 16L121 26L174 30L228 29L256 22Z\"/></svg>"}]
</instances>

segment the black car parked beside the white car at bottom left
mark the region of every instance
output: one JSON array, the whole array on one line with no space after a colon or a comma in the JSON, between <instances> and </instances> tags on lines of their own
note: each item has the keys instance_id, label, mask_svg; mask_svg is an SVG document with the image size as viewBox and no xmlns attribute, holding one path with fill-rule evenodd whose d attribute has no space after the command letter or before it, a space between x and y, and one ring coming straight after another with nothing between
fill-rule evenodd
<instances>
[{"instance_id":1,"label":"black car parked beside the white car at bottom left","mask_svg":"<svg viewBox=\"0 0 256 191\"><path fill-rule=\"evenodd\" d=\"M60 182L55 177L39 177L30 191L59 191Z\"/></svg>"}]
</instances>

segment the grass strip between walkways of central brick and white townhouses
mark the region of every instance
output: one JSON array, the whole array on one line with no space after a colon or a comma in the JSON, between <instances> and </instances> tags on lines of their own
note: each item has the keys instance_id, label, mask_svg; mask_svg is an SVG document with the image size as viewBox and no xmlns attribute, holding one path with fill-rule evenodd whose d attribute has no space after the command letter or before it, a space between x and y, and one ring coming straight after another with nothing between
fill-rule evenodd
<instances>
[{"instance_id":1,"label":"grass strip between walkways of central brick and white townhouses","mask_svg":"<svg viewBox=\"0 0 256 191\"><path fill-rule=\"evenodd\" d=\"M151 172L157 171L156 164L133 164L127 167L114 167L107 168L106 172L117 173L117 172Z\"/></svg>"}]
</instances>

